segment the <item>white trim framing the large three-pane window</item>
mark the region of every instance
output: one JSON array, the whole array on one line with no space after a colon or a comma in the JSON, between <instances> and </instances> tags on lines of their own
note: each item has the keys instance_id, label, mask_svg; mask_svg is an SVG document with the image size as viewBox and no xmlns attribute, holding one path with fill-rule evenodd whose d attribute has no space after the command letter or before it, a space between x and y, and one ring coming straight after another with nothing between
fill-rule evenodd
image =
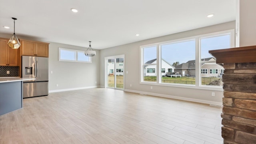
<instances>
[{"instance_id":1,"label":"white trim framing the large three-pane window","mask_svg":"<svg viewBox=\"0 0 256 144\"><path fill-rule=\"evenodd\" d=\"M201 84L200 38L215 37L215 36L218 36L218 35L221 36L221 35L225 35L225 34L230 34L230 48L234 48L235 47L235 30L234 29L140 46L140 84L223 91L223 88L221 86L207 86L207 85L202 85ZM189 40L196 40L196 58L195 58L195 61L196 61L196 77L198 77L198 78L196 78L196 85L161 83L160 82L161 79L160 79L160 76L159 76L159 74L161 74L161 65L160 65L159 61L162 59L161 58L160 45L161 44L174 43L174 42L189 41ZM143 50L142 49L146 48L146 47L151 47L151 46L156 46L157 47L157 57L156 57L157 64L148 64L148 65L156 65L157 66L157 70L156 70L157 80L156 80L156 82L144 82L142 67L145 64L143 64L144 57L143 57Z\"/></svg>"}]
</instances>

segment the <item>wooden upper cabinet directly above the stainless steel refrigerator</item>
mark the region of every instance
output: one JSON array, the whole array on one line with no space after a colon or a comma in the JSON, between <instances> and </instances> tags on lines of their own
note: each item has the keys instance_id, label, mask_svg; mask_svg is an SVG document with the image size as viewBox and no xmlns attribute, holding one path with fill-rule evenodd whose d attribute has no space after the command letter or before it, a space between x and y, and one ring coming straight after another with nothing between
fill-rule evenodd
<instances>
[{"instance_id":1,"label":"wooden upper cabinet directly above the stainless steel refrigerator","mask_svg":"<svg viewBox=\"0 0 256 144\"><path fill-rule=\"evenodd\" d=\"M20 39L22 56L49 57L49 43Z\"/></svg>"}]
</instances>

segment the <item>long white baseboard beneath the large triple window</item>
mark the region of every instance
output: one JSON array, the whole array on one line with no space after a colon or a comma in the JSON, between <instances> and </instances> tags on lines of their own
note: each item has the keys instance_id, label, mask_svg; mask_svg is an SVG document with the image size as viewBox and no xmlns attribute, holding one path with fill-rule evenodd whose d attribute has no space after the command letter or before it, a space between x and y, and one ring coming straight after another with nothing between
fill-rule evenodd
<instances>
[{"instance_id":1,"label":"long white baseboard beneath the large triple window","mask_svg":"<svg viewBox=\"0 0 256 144\"><path fill-rule=\"evenodd\" d=\"M199 99L195 99L195 98L170 96L170 95L166 95L166 94L157 94L157 93L152 93L152 92L142 92L142 91L128 90L128 89L125 89L124 91L125 92L135 92L135 93L138 93L138 94L148 94L148 95L152 95L152 96L160 96L160 97L164 97L164 98L173 98L173 99L177 99L177 100L186 100L186 101L190 101L190 102L199 102L199 103L203 103L203 104L213 104L213 105L222 106L222 102L213 102L213 101L210 101L210 100L199 100Z\"/></svg>"}]
</instances>

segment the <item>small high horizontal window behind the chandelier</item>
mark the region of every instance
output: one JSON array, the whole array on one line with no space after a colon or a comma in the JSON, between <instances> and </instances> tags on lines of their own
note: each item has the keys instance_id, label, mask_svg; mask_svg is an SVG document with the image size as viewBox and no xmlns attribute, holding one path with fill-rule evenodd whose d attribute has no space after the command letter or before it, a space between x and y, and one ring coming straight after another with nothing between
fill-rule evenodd
<instances>
[{"instance_id":1,"label":"small high horizontal window behind the chandelier","mask_svg":"<svg viewBox=\"0 0 256 144\"><path fill-rule=\"evenodd\" d=\"M82 50L59 48L59 61L66 62L91 62L89 56L84 55Z\"/></svg>"}]
</instances>

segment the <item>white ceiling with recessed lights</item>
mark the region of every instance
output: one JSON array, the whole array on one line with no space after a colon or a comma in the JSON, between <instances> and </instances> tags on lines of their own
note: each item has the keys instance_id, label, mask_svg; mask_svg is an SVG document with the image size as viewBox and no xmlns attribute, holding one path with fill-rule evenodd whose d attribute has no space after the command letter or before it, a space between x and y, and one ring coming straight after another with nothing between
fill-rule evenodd
<instances>
[{"instance_id":1,"label":"white ceiling with recessed lights","mask_svg":"<svg viewBox=\"0 0 256 144\"><path fill-rule=\"evenodd\" d=\"M91 40L103 49L229 22L235 14L235 0L0 0L0 33L11 37L14 17L18 38L82 47Z\"/></svg>"}]
</instances>

